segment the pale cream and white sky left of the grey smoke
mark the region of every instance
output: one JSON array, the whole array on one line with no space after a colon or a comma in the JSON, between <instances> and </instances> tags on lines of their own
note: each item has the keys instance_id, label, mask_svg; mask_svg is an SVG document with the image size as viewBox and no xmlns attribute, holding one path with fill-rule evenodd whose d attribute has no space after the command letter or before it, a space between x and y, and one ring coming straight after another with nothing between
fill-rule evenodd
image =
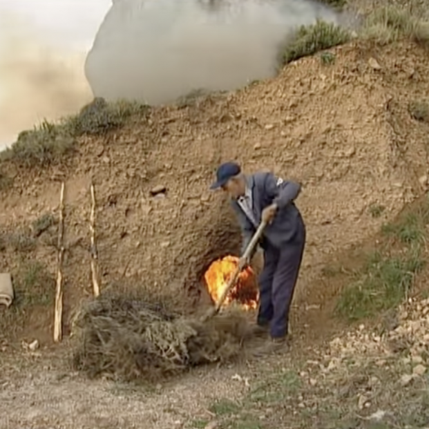
<instances>
[{"instance_id":1,"label":"pale cream and white sky left of the grey smoke","mask_svg":"<svg viewBox=\"0 0 429 429\"><path fill-rule=\"evenodd\" d=\"M92 98L84 61L112 0L0 0L0 149Z\"/></svg>"}]
</instances>

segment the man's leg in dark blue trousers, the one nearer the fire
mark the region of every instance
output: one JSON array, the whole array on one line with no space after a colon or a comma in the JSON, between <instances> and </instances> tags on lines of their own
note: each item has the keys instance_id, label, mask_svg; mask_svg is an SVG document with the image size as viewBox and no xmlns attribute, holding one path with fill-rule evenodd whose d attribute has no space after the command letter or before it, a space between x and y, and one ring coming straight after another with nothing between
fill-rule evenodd
<instances>
[{"instance_id":1,"label":"man's leg in dark blue trousers, the one nearer the fire","mask_svg":"<svg viewBox=\"0 0 429 429\"><path fill-rule=\"evenodd\" d=\"M264 251L264 267L259 276L259 311L258 325L267 326L271 322L274 309L272 303L272 287L280 251L267 245Z\"/></svg>"}]
</instances>

